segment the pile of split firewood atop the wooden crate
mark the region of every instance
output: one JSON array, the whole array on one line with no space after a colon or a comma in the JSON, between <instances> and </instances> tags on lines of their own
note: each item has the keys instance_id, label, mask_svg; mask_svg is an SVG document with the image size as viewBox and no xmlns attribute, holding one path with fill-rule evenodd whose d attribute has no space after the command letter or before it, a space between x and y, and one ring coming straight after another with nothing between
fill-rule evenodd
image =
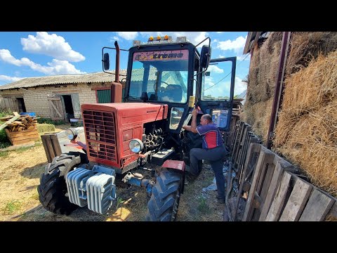
<instances>
[{"instance_id":1,"label":"pile of split firewood atop the wooden crate","mask_svg":"<svg viewBox=\"0 0 337 253\"><path fill-rule=\"evenodd\" d=\"M4 126L6 124L6 126ZM13 115L0 118L0 125L9 131L23 131L28 129L37 129L37 117L30 115L19 115L13 112Z\"/></svg>"}]
</instances>

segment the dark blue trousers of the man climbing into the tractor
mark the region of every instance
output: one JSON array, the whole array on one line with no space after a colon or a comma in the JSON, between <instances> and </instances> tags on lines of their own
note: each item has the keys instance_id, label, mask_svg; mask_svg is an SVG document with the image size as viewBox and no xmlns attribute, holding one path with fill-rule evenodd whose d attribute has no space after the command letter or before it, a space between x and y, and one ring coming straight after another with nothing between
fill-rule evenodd
<instances>
[{"instance_id":1,"label":"dark blue trousers of the man climbing into the tractor","mask_svg":"<svg viewBox=\"0 0 337 253\"><path fill-rule=\"evenodd\" d=\"M209 161L216 176L218 197L225 198L225 176L223 176L223 158L227 151L223 145L216 148L192 148L190 150L190 169L192 174L198 174L198 160Z\"/></svg>"}]
</instances>

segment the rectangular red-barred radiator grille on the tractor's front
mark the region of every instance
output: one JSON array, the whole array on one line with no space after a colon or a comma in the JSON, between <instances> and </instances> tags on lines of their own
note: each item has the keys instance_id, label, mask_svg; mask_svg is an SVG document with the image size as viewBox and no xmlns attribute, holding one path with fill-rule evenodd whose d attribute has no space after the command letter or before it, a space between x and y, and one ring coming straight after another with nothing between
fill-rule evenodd
<instances>
[{"instance_id":1,"label":"rectangular red-barred radiator grille on the tractor's front","mask_svg":"<svg viewBox=\"0 0 337 253\"><path fill-rule=\"evenodd\" d=\"M114 113L84 110L83 119L88 155L117 162Z\"/></svg>"}]
</instances>

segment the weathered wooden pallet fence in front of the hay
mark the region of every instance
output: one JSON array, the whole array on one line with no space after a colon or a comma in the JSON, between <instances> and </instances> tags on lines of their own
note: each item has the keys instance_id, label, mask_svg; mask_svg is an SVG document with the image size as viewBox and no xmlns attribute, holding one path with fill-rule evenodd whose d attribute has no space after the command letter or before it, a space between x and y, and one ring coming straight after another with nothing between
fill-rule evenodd
<instances>
[{"instance_id":1,"label":"weathered wooden pallet fence in front of the hay","mask_svg":"<svg viewBox=\"0 0 337 253\"><path fill-rule=\"evenodd\" d=\"M249 124L239 122L232 141L232 167L239 190L234 221L337 220L336 198L305 181L299 169L259 144ZM246 203L238 216L240 199Z\"/></svg>"}]
</instances>

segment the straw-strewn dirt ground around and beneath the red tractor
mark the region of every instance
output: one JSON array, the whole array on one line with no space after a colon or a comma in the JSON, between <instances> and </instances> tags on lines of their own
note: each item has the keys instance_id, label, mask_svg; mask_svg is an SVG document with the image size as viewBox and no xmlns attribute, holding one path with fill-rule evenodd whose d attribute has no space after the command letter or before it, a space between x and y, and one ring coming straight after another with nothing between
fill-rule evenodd
<instances>
[{"instance_id":1,"label":"straw-strewn dirt ground around and beneath the red tractor","mask_svg":"<svg viewBox=\"0 0 337 253\"><path fill-rule=\"evenodd\" d=\"M56 126L57 131L66 127L69 126ZM0 153L0 221L144 221L150 197L144 188L136 186L117 188L117 200L106 215L91 212L86 207L69 216L46 211L37 193L39 177L46 164L41 142L31 148ZM139 172L145 174L146 171ZM185 184L177 221L222 221L225 205L216 202L216 191L202 190L212 181L213 172L205 163L197 180Z\"/></svg>"}]
</instances>

